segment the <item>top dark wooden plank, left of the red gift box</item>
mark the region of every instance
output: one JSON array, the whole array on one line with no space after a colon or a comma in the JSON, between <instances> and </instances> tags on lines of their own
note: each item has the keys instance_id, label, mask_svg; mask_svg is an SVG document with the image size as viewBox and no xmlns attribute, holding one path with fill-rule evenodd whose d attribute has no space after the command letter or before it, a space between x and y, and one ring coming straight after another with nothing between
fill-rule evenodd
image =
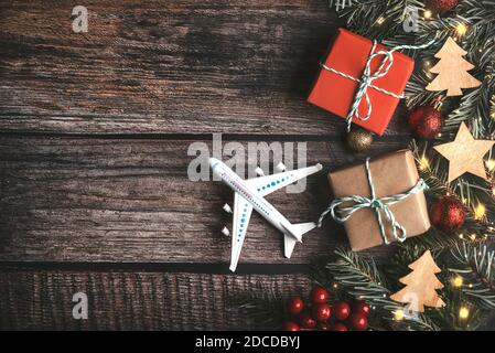
<instances>
[{"instance_id":1,"label":"top dark wooden plank, left of the red gift box","mask_svg":"<svg viewBox=\"0 0 495 353\"><path fill-rule=\"evenodd\" d=\"M0 4L0 130L305 133L344 121L305 103L335 30L322 0ZM77 3L78 4L78 3ZM405 132L396 118L388 133Z\"/></svg>"}]
</instances>

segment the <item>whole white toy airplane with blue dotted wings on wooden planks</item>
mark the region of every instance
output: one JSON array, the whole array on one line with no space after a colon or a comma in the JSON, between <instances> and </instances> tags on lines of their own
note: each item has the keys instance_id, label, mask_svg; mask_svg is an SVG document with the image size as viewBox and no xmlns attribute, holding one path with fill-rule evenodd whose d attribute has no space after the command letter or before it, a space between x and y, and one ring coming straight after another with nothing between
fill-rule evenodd
<instances>
[{"instance_id":1,"label":"whole white toy airplane with blue dotted wings on wooden planks","mask_svg":"<svg viewBox=\"0 0 495 353\"><path fill-rule=\"evenodd\" d=\"M229 267L232 271L235 271L237 268L240 249L243 248L243 243L252 208L255 208L277 229L283 233L286 257L291 257L295 242L302 243L302 235L316 226L314 222L291 224L280 212L278 212L267 200L265 200L263 196L320 171L322 169L321 164L302 168L299 170L284 171L284 165L280 163L277 165L277 169L281 172L272 175L263 175L262 170L258 167L256 172L260 176L249 180L241 179L225 163L215 158L209 159L209 165L213 173L218 175L222 181L234 190L234 221ZM233 210L228 204L224 205L224 210L228 213L233 213ZM224 227L222 233L229 235L226 227Z\"/></svg>"}]
</instances>

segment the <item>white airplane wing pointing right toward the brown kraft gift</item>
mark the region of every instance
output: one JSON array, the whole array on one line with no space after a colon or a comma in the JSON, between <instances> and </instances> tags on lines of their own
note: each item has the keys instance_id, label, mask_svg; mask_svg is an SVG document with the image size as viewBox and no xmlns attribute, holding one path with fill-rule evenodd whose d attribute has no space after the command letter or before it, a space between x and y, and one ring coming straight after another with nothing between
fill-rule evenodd
<instances>
[{"instance_id":1,"label":"white airplane wing pointing right toward the brown kraft gift","mask_svg":"<svg viewBox=\"0 0 495 353\"><path fill-rule=\"evenodd\" d=\"M268 195L273 191L284 188L289 184L297 182L298 180L311 175L322 169L322 164L313 167L301 168L298 170L291 170L283 173L276 173L266 176L258 176L246 180L246 183L257 190L261 196Z\"/></svg>"}]
</instances>

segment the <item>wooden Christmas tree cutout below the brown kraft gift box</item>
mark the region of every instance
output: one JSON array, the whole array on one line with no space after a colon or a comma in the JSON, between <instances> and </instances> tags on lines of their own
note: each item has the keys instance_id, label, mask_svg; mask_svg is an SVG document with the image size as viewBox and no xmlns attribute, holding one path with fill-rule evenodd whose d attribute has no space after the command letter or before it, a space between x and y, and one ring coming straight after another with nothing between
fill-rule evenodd
<instances>
[{"instance_id":1,"label":"wooden Christmas tree cutout below the brown kraft gift box","mask_svg":"<svg viewBox=\"0 0 495 353\"><path fill-rule=\"evenodd\" d=\"M419 312L424 311L424 306L431 308L445 306L435 290L443 288L442 282L434 275L441 269L434 263L430 250L424 252L419 259L409 265L409 268L412 272L399 279L406 287L390 296L390 299L409 303L409 310Z\"/></svg>"}]
</instances>

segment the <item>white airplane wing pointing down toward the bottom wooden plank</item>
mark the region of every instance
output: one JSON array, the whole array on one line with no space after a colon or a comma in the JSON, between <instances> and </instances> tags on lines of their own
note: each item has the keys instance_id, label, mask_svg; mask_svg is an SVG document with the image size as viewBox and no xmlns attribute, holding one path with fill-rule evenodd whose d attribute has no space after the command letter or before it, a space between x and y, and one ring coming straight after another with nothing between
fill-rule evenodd
<instances>
[{"instance_id":1,"label":"white airplane wing pointing down toward the bottom wooden plank","mask_svg":"<svg viewBox=\"0 0 495 353\"><path fill-rule=\"evenodd\" d=\"M243 249L244 238L246 236L249 220L252 213L252 206L238 193L234 193L234 218L232 226L232 254L230 270L234 272L239 261L240 250Z\"/></svg>"}]
</instances>

